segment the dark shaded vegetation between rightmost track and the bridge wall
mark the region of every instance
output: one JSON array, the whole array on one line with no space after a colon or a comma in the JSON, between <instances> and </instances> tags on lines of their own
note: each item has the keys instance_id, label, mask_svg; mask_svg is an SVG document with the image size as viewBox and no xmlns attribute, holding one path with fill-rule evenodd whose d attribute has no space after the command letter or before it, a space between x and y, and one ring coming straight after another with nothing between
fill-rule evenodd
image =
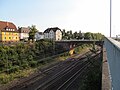
<instances>
[{"instance_id":1,"label":"dark shaded vegetation between rightmost track and the bridge wall","mask_svg":"<svg viewBox=\"0 0 120 90\"><path fill-rule=\"evenodd\" d=\"M83 80L82 87L79 90L101 90L102 69L101 63L102 57L98 60L91 60L92 66L89 67L89 73Z\"/></svg>"}]
</instances>

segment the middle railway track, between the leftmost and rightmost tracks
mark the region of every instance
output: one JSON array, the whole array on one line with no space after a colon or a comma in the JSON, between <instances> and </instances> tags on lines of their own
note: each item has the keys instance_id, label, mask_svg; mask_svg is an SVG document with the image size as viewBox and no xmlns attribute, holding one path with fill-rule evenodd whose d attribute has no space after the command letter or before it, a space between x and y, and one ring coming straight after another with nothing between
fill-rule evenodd
<instances>
[{"instance_id":1,"label":"middle railway track, between the leftmost and rightmost tracks","mask_svg":"<svg viewBox=\"0 0 120 90\"><path fill-rule=\"evenodd\" d=\"M97 55L92 55L92 58L95 58ZM71 79L75 78L75 76L78 77L82 75L82 71L87 69L90 66L90 64L91 63L87 59L83 60L81 63L78 61L75 65L68 67L67 69L65 69L64 72L59 72L57 76L53 76L52 78L50 78L50 80L37 87L35 90L66 90L67 88L64 89L64 86L66 86L66 84L68 84L68 82L70 82ZM73 75L71 75L72 72ZM74 80L75 79L73 79L73 81ZM69 87L69 85L67 87Z\"/></svg>"}]
</instances>

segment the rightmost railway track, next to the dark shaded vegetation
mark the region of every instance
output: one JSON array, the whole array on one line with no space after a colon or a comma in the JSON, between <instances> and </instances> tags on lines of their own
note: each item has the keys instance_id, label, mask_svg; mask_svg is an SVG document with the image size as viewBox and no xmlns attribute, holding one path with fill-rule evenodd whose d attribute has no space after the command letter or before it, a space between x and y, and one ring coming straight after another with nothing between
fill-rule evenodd
<instances>
[{"instance_id":1,"label":"rightmost railway track, next to the dark shaded vegetation","mask_svg":"<svg viewBox=\"0 0 120 90\"><path fill-rule=\"evenodd\" d=\"M100 53L94 56L94 60L98 59ZM87 62L80 70L73 74L66 82L58 87L57 90L73 90L75 89L75 81L79 80L79 77L85 78L87 73L90 71L88 69L92 65L91 62ZM85 71L85 72L84 72ZM72 87L74 86L74 88ZM76 90L76 89L75 89Z\"/></svg>"}]
</instances>

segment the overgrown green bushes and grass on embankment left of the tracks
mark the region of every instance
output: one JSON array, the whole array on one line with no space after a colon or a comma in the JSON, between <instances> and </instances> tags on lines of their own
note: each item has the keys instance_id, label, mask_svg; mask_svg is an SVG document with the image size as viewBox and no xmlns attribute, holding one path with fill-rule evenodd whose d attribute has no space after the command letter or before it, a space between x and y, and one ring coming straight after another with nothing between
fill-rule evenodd
<instances>
[{"instance_id":1,"label":"overgrown green bushes and grass on embankment left of the tracks","mask_svg":"<svg viewBox=\"0 0 120 90\"><path fill-rule=\"evenodd\" d=\"M78 53L89 45L75 48ZM16 78L26 77L37 68L51 62L62 61L70 57L62 46L51 40L40 40L34 43L0 46L0 83L6 84Z\"/></svg>"}]
</instances>

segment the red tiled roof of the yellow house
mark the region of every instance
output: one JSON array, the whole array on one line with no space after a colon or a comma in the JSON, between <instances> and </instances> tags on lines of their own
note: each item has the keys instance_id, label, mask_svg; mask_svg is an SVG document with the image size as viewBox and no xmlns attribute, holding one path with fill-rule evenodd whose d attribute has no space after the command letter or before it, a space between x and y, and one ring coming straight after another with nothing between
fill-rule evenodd
<instances>
[{"instance_id":1,"label":"red tiled roof of the yellow house","mask_svg":"<svg viewBox=\"0 0 120 90\"><path fill-rule=\"evenodd\" d=\"M15 29L15 31L17 30L16 26L12 22L0 21L0 30L5 30L5 28Z\"/></svg>"}]
</instances>

